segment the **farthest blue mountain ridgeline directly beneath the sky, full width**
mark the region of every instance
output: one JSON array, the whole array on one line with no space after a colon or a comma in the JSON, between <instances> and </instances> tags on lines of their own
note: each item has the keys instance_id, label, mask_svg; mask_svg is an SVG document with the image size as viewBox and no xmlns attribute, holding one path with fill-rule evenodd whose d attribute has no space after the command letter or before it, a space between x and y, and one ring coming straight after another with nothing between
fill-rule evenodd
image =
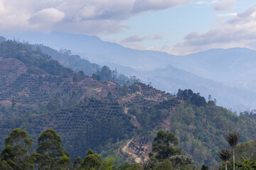
<instances>
[{"instance_id":1,"label":"farthest blue mountain ridgeline directly beneath the sky, full width","mask_svg":"<svg viewBox=\"0 0 256 170\"><path fill-rule=\"evenodd\" d=\"M256 51L247 48L213 49L175 56L166 52L133 50L88 35L30 33L16 35L15 38L32 43L41 42L57 49L61 47L70 49L73 53L83 54L82 57L100 64L113 63L137 69L156 69L173 65L178 69L215 81L251 81L255 80L256 74ZM76 42L75 45L73 42Z\"/></svg>"}]
</instances>

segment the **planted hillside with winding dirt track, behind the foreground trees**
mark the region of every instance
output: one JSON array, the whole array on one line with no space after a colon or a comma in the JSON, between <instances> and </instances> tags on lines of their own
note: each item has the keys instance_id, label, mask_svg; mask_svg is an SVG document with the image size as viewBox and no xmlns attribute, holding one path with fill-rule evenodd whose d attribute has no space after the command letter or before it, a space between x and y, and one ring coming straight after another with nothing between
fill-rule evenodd
<instances>
[{"instance_id":1,"label":"planted hillside with winding dirt track, behind the foreground trees","mask_svg":"<svg viewBox=\"0 0 256 170\"><path fill-rule=\"evenodd\" d=\"M164 129L175 133L194 164L214 166L228 131L238 130L241 142L256 137L253 120L206 102L191 90L174 96L142 83L97 81L63 67L33 45L15 41L1 42L0 57L1 148L14 128L27 130L33 140L53 128L73 159L92 148L132 161L128 152L139 162L148 159L152 137Z\"/></svg>"}]
</instances>

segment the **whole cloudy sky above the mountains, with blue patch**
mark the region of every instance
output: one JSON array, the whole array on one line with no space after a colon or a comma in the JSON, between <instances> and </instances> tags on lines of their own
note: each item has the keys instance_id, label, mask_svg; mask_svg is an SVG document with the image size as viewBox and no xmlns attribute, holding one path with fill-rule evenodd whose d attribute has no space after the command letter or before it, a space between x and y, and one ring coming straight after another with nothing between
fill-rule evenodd
<instances>
[{"instance_id":1,"label":"whole cloudy sky above the mountains, with blue patch","mask_svg":"<svg viewBox=\"0 0 256 170\"><path fill-rule=\"evenodd\" d=\"M187 55L256 50L252 0L0 0L0 33L97 35L139 50Z\"/></svg>"}]
</instances>

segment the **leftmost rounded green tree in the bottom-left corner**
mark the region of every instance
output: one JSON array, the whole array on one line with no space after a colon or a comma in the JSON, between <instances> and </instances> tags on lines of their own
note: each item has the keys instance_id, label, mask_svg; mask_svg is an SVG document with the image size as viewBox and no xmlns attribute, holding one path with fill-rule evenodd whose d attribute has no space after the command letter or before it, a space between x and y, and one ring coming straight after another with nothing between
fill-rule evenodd
<instances>
[{"instance_id":1,"label":"leftmost rounded green tree in the bottom-left corner","mask_svg":"<svg viewBox=\"0 0 256 170\"><path fill-rule=\"evenodd\" d=\"M4 140L4 149L1 152L2 166L11 166L13 169L33 169L31 152L33 140L28 138L26 130L21 128L11 131ZM9 164L9 165L7 165Z\"/></svg>"}]
</instances>

